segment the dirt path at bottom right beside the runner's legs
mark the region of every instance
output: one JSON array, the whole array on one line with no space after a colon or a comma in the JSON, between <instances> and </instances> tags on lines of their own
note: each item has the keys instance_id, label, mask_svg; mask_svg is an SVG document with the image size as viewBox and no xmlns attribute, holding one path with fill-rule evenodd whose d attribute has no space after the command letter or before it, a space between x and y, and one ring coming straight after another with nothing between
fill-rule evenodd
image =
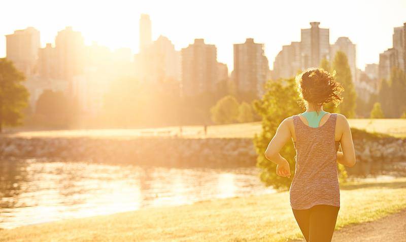
<instances>
[{"instance_id":1,"label":"dirt path at bottom right beside the runner's legs","mask_svg":"<svg viewBox=\"0 0 406 242\"><path fill-rule=\"evenodd\" d=\"M299 242L303 240L293 240ZM344 227L334 232L332 242L406 241L406 210L382 219Z\"/></svg>"}]
</instances>

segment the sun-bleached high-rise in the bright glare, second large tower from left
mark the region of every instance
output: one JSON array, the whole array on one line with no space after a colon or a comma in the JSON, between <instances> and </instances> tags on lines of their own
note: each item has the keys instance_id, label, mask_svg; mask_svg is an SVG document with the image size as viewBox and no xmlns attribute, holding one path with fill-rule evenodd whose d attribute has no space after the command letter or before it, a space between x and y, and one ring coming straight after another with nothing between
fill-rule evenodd
<instances>
[{"instance_id":1,"label":"sun-bleached high-rise in the bright glare, second large tower from left","mask_svg":"<svg viewBox=\"0 0 406 242\"><path fill-rule=\"evenodd\" d=\"M81 32L66 27L55 38L58 77L71 82L76 75L81 75L85 64L85 44Z\"/></svg>"}]
</instances>

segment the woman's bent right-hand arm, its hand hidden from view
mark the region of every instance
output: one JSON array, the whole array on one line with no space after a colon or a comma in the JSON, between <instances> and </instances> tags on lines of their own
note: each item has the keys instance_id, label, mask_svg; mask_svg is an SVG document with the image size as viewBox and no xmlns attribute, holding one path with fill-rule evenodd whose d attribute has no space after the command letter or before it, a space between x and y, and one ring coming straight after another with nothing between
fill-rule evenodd
<instances>
[{"instance_id":1,"label":"woman's bent right-hand arm, its hand hidden from view","mask_svg":"<svg viewBox=\"0 0 406 242\"><path fill-rule=\"evenodd\" d=\"M356 161L350 125L348 124L346 116L342 114L339 114L339 116L344 130L340 140L341 148L343 151L337 152L337 162L347 167L353 167Z\"/></svg>"}]
</instances>

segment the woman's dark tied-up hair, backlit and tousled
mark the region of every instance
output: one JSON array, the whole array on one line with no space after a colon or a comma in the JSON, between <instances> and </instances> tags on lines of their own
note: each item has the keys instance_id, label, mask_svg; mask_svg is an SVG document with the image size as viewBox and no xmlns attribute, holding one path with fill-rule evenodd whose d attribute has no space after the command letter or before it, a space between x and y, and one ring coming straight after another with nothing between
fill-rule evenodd
<instances>
[{"instance_id":1,"label":"woman's dark tied-up hair, backlit and tousled","mask_svg":"<svg viewBox=\"0 0 406 242\"><path fill-rule=\"evenodd\" d=\"M323 68L309 68L296 76L297 91L299 92L299 105L306 107L306 102L312 103L316 110L319 107L332 102L336 107L342 101L341 93L343 86L335 81L333 73Z\"/></svg>"}]
</instances>

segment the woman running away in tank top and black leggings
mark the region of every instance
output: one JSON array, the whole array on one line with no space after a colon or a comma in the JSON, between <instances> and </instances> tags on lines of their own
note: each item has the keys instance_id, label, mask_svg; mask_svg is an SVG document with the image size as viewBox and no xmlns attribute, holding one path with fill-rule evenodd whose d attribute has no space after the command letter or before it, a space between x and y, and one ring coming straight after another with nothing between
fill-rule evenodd
<instances>
[{"instance_id":1,"label":"woman running away in tank top and black leggings","mask_svg":"<svg viewBox=\"0 0 406 242\"><path fill-rule=\"evenodd\" d=\"M290 186L290 205L306 241L331 241L340 210L337 162L355 165L355 151L347 118L323 110L323 104L337 106L343 87L335 73L310 68L296 76L301 104L306 111L283 120L265 151L277 164L276 173L290 178L287 160L279 154L292 139L296 149L295 175ZM342 151L338 151L341 144Z\"/></svg>"}]
</instances>

